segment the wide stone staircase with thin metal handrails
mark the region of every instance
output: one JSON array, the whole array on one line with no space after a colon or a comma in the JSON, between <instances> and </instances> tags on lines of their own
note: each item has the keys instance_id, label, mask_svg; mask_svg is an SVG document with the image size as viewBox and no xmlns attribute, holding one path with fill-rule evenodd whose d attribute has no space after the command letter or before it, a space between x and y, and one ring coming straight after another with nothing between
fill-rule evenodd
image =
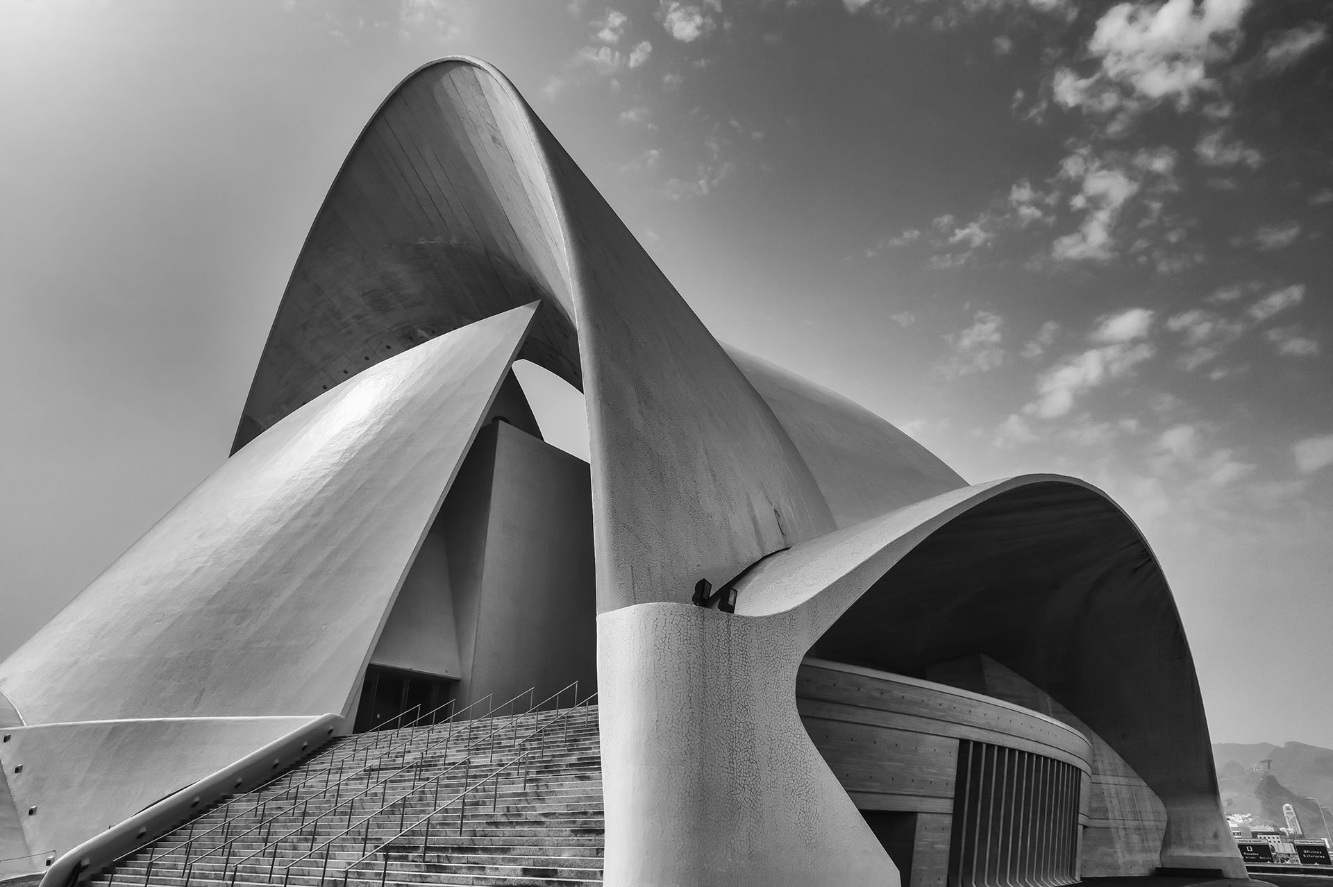
<instances>
[{"instance_id":1,"label":"wide stone staircase with thin metal handrails","mask_svg":"<svg viewBox=\"0 0 1333 887\"><path fill-rule=\"evenodd\" d=\"M600 884L601 754L592 702L335 739L92 882Z\"/></svg>"}]
</instances>

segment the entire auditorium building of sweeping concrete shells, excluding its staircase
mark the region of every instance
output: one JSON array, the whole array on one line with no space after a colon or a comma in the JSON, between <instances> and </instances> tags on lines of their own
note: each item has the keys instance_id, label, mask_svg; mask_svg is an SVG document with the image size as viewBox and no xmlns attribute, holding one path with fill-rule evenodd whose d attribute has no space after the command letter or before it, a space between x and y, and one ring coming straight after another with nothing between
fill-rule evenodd
<instances>
[{"instance_id":1,"label":"entire auditorium building of sweeping concrete shells, excluding its staircase","mask_svg":"<svg viewBox=\"0 0 1333 887\"><path fill-rule=\"evenodd\" d=\"M588 462L520 360L583 392ZM321 717L575 681L615 887L1245 878L1125 513L720 344L444 59L333 180L229 458L0 665L0 878Z\"/></svg>"}]
</instances>

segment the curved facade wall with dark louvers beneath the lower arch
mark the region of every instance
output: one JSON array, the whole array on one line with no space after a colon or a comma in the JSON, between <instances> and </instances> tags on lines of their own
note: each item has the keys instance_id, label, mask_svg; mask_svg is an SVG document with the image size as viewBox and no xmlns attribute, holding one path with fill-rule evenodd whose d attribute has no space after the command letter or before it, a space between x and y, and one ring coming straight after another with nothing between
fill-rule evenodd
<instances>
[{"instance_id":1,"label":"curved facade wall with dark louvers beneath the lower arch","mask_svg":"<svg viewBox=\"0 0 1333 887\"><path fill-rule=\"evenodd\" d=\"M1001 699L821 659L802 662L796 702L904 884L1077 880L1092 772L1077 730Z\"/></svg>"}]
</instances>

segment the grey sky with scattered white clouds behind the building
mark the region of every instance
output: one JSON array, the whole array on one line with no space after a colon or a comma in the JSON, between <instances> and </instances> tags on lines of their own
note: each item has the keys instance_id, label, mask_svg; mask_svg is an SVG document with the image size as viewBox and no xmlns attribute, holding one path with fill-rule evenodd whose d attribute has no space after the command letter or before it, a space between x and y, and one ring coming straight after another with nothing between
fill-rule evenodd
<instances>
[{"instance_id":1,"label":"grey sky with scattered white clouds behind the building","mask_svg":"<svg viewBox=\"0 0 1333 887\"><path fill-rule=\"evenodd\" d=\"M1114 497L1214 740L1333 747L1330 31L1322 0L0 0L0 657L227 458L356 135L465 53L718 340L970 482Z\"/></svg>"}]
</instances>

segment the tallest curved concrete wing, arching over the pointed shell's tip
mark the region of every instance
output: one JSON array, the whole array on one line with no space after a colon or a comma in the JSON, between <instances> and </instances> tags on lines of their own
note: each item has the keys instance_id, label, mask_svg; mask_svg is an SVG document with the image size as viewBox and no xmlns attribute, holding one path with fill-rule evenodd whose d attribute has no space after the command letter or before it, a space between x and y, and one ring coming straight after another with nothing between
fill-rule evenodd
<instances>
[{"instance_id":1,"label":"tallest curved concrete wing, arching over the pointed shell's tip","mask_svg":"<svg viewBox=\"0 0 1333 887\"><path fill-rule=\"evenodd\" d=\"M768 404L495 68L403 81L348 154L237 445L384 357L539 298L521 356L581 384L599 609L689 601L833 529Z\"/></svg>"}]
</instances>

